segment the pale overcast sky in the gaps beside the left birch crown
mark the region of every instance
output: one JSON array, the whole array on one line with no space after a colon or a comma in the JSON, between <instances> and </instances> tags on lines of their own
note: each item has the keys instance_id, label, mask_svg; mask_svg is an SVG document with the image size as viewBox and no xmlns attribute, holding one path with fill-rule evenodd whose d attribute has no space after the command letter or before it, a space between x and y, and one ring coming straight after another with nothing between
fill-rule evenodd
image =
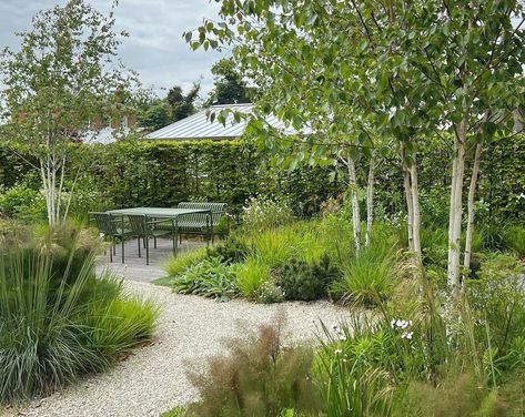
<instances>
[{"instance_id":1,"label":"pale overcast sky in the gaps beside the left birch crown","mask_svg":"<svg viewBox=\"0 0 525 417\"><path fill-rule=\"evenodd\" d=\"M17 48L14 32L27 30L31 18L65 0L0 0L0 45ZM98 10L108 12L111 0L87 0ZM218 3L212 0L120 0L117 29L130 37L123 40L120 57L124 64L138 71L144 87L154 87L165 95L166 89L181 84L188 89L203 75L204 98L211 89L211 65L221 57L215 51L193 52L182 39L182 32L195 29L203 18L216 19Z\"/></svg>"}]
</instances>

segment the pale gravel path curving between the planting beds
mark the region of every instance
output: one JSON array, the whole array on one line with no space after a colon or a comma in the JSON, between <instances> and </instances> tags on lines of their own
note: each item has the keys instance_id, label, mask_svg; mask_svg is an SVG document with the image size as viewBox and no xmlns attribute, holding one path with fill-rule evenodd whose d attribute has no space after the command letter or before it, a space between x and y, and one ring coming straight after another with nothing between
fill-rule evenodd
<instances>
[{"instance_id":1,"label":"pale gravel path curving between the planting beds","mask_svg":"<svg viewBox=\"0 0 525 417\"><path fill-rule=\"evenodd\" d=\"M172 294L169 288L128 281L132 292L152 297L161 306L157 338L150 346L105 374L31 405L24 416L159 416L195 399L185 370L205 365L220 354L223 342L256 329L283 311L287 340L314 339L322 319L332 325L347 311L326 302L258 305L244 301L216 303L196 296Z\"/></svg>"}]
</instances>

